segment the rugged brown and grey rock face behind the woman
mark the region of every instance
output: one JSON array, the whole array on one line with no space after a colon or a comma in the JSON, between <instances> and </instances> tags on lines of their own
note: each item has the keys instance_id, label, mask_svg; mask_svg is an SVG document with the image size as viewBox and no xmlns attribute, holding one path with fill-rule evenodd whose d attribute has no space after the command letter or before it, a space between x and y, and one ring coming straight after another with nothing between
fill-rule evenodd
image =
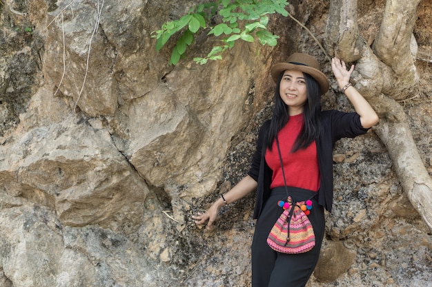
<instances>
[{"instance_id":1,"label":"rugged brown and grey rock face behind the woman","mask_svg":"<svg viewBox=\"0 0 432 287\"><path fill-rule=\"evenodd\" d=\"M290 7L318 39L324 2ZM273 17L288 28L276 48L238 43L199 66L190 59L212 45L203 34L169 66L150 32L193 3L0 1L1 287L250 285L253 195L213 232L190 216L245 175L271 111L270 65L296 50L324 55ZM429 170L431 91L406 106ZM333 90L323 105L351 109ZM334 160L334 211L308 286L427 286L432 237L380 141L341 140Z\"/></svg>"}]
</instances>

